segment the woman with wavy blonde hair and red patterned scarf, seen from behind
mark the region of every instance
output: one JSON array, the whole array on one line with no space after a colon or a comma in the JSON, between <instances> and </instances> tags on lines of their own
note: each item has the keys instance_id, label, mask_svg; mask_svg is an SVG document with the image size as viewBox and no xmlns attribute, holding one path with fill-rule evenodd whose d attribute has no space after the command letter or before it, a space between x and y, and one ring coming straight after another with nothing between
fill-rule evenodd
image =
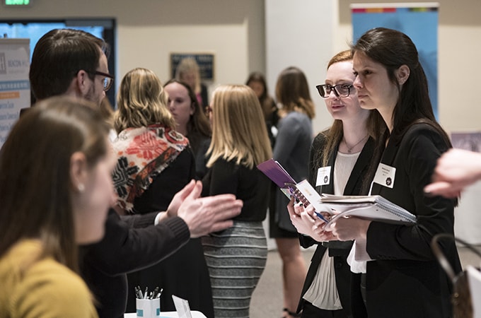
<instances>
[{"instance_id":1,"label":"woman with wavy blonde hair and red patterned scarf, seen from behind","mask_svg":"<svg viewBox=\"0 0 481 318\"><path fill-rule=\"evenodd\" d=\"M161 81L149 69L133 69L120 83L112 145L118 207L124 213L167 211L173 196L195 178L189 141L175 131ZM161 218L166 213L161 213ZM155 244L155 242L152 242ZM147 247L146 247L147 248ZM147 252L147 249L146 249ZM175 310L172 295L189 301L192 310L213 316L209 272L200 239L191 239L175 254L128 274L127 311L135 311L134 287L163 288L161 308Z\"/></svg>"}]
</instances>

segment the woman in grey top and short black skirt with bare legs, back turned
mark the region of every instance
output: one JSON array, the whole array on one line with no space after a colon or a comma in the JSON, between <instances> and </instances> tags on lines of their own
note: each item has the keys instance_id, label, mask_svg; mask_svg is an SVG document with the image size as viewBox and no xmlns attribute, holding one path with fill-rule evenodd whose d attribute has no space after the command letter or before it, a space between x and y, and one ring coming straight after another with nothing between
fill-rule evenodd
<instances>
[{"instance_id":1,"label":"woman in grey top and short black skirt with bare legs, back turned","mask_svg":"<svg viewBox=\"0 0 481 318\"><path fill-rule=\"evenodd\" d=\"M276 99L280 107L278 133L273 157L296 181L307 179L309 149L313 140L312 122L315 111L306 76L291 66L279 74ZM284 317L295 317L297 302L306 277L306 264L301 254L297 231L287 211L289 200L274 185L270 213L270 237L276 240L282 259L284 282Z\"/></svg>"}]
</instances>

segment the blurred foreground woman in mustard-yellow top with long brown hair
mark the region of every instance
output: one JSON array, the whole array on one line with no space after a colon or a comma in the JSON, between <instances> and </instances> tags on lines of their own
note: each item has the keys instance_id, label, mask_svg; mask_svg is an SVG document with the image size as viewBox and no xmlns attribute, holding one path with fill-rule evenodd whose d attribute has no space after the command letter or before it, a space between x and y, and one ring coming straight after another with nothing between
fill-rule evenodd
<instances>
[{"instance_id":1,"label":"blurred foreground woman in mustard-yellow top with long brown hair","mask_svg":"<svg viewBox=\"0 0 481 318\"><path fill-rule=\"evenodd\" d=\"M77 245L103 237L115 200L108 131L67 97L13 126L0 155L0 317L98 317Z\"/></svg>"}]
</instances>

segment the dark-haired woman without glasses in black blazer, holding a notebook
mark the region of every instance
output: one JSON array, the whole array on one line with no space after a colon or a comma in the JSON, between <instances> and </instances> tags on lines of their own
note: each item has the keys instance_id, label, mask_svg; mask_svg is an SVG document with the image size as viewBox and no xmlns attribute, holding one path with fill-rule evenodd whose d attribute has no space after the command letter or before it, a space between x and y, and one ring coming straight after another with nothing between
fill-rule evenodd
<instances>
[{"instance_id":1,"label":"dark-haired woman without glasses in black blazer, holding a notebook","mask_svg":"<svg viewBox=\"0 0 481 318\"><path fill-rule=\"evenodd\" d=\"M410 37L387 28L367 31L352 49L359 103L378 111L388 128L371 194L415 214L417 223L341 218L325 238L355 240L355 259L367 261L369 318L452 317L451 282L430 243L437 233L453 235L456 199L423 191L451 142L434 117L417 49ZM456 245L446 242L442 248L460 271Z\"/></svg>"}]
</instances>

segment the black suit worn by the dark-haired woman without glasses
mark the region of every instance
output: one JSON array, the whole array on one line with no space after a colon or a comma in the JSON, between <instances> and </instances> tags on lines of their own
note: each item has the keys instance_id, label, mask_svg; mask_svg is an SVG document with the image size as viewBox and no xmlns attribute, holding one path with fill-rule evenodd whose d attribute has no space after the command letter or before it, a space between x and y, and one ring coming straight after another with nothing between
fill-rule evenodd
<instances>
[{"instance_id":1,"label":"black suit worn by the dark-haired woman without glasses","mask_svg":"<svg viewBox=\"0 0 481 318\"><path fill-rule=\"evenodd\" d=\"M367 232L366 304L369 318L451 317L451 286L429 243L436 233L453 234L456 201L425 196L436 160L448 150L439 131L429 124L413 124L398 139L391 139L381 163L395 167L393 189L374 184L380 194L418 218L417 225L372 222ZM444 252L460 271L456 245Z\"/></svg>"}]
</instances>

